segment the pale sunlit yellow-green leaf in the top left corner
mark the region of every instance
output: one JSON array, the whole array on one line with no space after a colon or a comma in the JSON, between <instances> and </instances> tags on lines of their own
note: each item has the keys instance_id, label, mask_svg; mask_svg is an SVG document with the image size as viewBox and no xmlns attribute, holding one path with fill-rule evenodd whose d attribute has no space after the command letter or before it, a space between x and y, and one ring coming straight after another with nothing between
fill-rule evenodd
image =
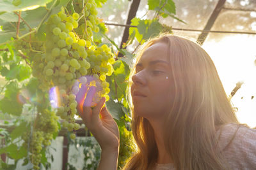
<instances>
[{"instance_id":1,"label":"pale sunlit yellow-green leaf in the top left corner","mask_svg":"<svg viewBox=\"0 0 256 170\"><path fill-rule=\"evenodd\" d=\"M21 1L18 6L15 6L11 1L0 1L0 12L33 10L40 6L46 6L46 4L51 1L52 0L26 0Z\"/></svg>"}]
</instances>

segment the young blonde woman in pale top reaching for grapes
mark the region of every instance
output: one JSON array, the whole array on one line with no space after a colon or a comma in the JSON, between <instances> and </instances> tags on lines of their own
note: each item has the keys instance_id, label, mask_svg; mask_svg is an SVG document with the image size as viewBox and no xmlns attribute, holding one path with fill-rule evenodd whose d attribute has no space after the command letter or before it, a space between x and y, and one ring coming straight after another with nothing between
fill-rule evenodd
<instances>
[{"instance_id":1,"label":"young blonde woman in pale top reaching for grapes","mask_svg":"<svg viewBox=\"0 0 256 170\"><path fill-rule=\"evenodd\" d=\"M174 35L150 39L131 80L138 150L124 169L256 169L256 130L239 125L216 67L196 43ZM104 102L93 110L82 103L79 113L102 148L98 169L111 170L119 132Z\"/></svg>"}]
</instances>

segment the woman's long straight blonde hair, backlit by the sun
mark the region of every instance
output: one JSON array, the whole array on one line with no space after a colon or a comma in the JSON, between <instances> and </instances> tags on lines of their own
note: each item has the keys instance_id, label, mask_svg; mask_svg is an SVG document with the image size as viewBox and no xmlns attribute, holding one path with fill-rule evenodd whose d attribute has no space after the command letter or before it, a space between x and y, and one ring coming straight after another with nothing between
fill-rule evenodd
<instances>
[{"instance_id":1,"label":"woman's long straight blonde hair, backlit by the sun","mask_svg":"<svg viewBox=\"0 0 256 170\"><path fill-rule=\"evenodd\" d=\"M136 63L149 46L160 41L168 45L175 86L172 109L164 122L164 146L173 165L182 170L228 169L221 156L216 130L239 122L211 57L189 39L164 34L140 47ZM133 74L134 69L131 76ZM131 99L131 94L129 97ZM133 112L131 100L130 105ZM132 134L137 150L124 169L154 169L158 150L148 120L132 113Z\"/></svg>"}]
</instances>

